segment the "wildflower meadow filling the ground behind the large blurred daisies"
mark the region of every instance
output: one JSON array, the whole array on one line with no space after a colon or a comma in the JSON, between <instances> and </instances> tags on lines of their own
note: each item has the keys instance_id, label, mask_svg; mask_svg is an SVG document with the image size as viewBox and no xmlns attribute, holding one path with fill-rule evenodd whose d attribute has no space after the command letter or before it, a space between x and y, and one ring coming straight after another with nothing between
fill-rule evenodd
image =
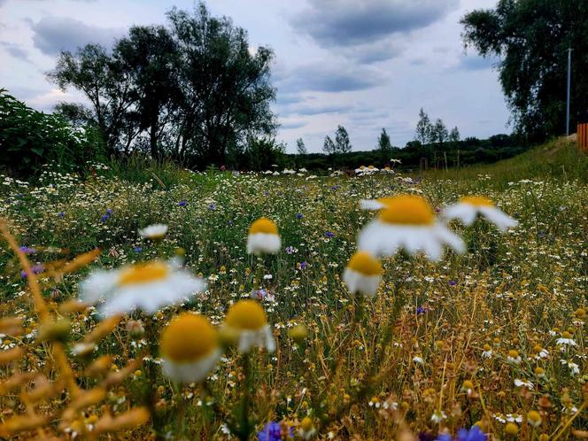
<instances>
[{"instance_id":1,"label":"wildflower meadow filling the ground behind the large blurred daisies","mask_svg":"<svg viewBox=\"0 0 588 441\"><path fill-rule=\"evenodd\" d=\"M423 175L93 164L48 167L35 184L0 176L0 437L586 438L587 163L557 142ZM452 221L465 253L400 251L373 298L354 295L344 268L376 216L360 199L398 194L436 212L488 197L518 226ZM276 254L247 252L260 217L279 229ZM138 233L151 224L168 227L161 240ZM181 258L206 289L105 319L76 302L97 268L157 258ZM263 306L274 352L239 351L221 332L244 298ZM221 332L201 382L161 369L160 335L182 312Z\"/></svg>"}]
</instances>

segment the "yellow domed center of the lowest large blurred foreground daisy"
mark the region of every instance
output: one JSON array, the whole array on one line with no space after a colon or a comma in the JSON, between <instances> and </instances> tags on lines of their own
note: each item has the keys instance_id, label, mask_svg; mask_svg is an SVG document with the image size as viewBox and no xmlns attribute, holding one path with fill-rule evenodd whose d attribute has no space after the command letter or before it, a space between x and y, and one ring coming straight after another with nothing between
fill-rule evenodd
<instances>
[{"instance_id":1,"label":"yellow domed center of the lowest large blurred foreground daisy","mask_svg":"<svg viewBox=\"0 0 588 441\"><path fill-rule=\"evenodd\" d=\"M182 313L164 329L161 353L176 363L201 359L218 346L216 329L203 315Z\"/></svg>"}]
</instances>

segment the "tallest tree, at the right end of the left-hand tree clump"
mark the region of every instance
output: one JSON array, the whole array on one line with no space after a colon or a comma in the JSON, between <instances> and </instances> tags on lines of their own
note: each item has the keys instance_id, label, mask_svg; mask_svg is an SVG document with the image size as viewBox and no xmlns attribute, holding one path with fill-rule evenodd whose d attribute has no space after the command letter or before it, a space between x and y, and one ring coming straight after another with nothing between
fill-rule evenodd
<instances>
[{"instance_id":1,"label":"tallest tree, at the right end of the left-hand tree clump","mask_svg":"<svg viewBox=\"0 0 588 441\"><path fill-rule=\"evenodd\" d=\"M230 19L210 15L204 3L193 14L167 14L181 52L176 58L180 98L175 145L180 157L204 164L224 164L228 148L243 150L251 136L275 133L269 104L274 53L259 47L251 53L247 33Z\"/></svg>"}]
</instances>

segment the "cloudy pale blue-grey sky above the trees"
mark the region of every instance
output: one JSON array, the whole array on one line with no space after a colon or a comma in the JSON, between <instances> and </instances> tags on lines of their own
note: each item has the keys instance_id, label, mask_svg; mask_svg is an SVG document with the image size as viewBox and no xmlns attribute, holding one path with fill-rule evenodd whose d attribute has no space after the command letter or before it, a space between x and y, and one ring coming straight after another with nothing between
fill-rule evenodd
<instances>
[{"instance_id":1,"label":"cloudy pale blue-grey sky above the trees","mask_svg":"<svg viewBox=\"0 0 588 441\"><path fill-rule=\"evenodd\" d=\"M321 151L343 125L354 151L372 150L385 128L391 142L414 139L421 107L461 137L509 133L496 59L465 50L460 19L496 0L208 0L233 19L251 50L275 51L276 140ZM84 102L46 79L60 50L110 47L132 25L163 24L193 0L0 0L0 88L35 109Z\"/></svg>"}]
</instances>

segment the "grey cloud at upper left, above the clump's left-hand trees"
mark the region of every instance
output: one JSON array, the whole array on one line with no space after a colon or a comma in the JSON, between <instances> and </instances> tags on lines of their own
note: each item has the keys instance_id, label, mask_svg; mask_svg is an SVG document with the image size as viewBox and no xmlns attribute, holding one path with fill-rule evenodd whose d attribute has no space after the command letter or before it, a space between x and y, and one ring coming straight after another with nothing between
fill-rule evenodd
<instances>
[{"instance_id":1,"label":"grey cloud at upper left, above the clump's left-hand trees","mask_svg":"<svg viewBox=\"0 0 588 441\"><path fill-rule=\"evenodd\" d=\"M61 50L76 50L88 43L111 47L125 29L87 25L77 19L43 17L32 25L33 43L46 55L56 55Z\"/></svg>"}]
</instances>

